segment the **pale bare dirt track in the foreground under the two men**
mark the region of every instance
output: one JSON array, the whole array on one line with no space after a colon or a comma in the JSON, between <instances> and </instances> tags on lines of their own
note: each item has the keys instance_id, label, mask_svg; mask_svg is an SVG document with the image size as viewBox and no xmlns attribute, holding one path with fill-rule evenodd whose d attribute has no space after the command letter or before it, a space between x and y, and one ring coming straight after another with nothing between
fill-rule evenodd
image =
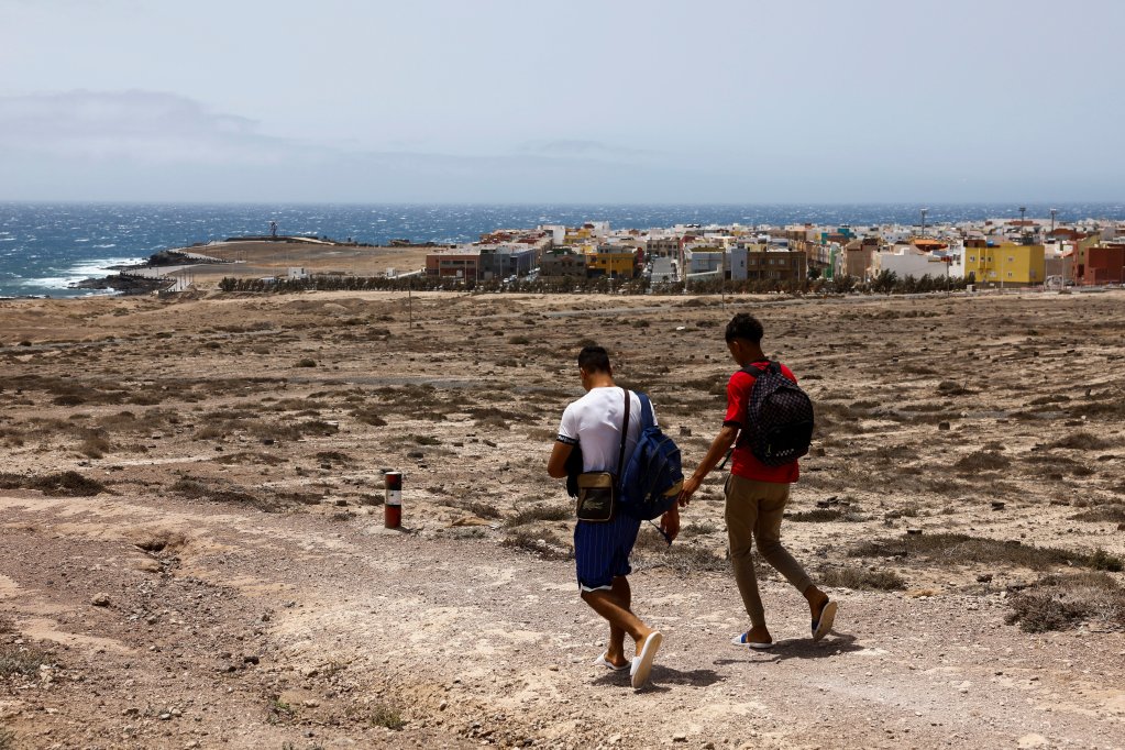
<instances>
[{"instance_id":1,"label":"pale bare dirt track in the foreground under the two men","mask_svg":"<svg viewBox=\"0 0 1125 750\"><path fill-rule=\"evenodd\" d=\"M813 645L799 597L766 581L778 645L746 653L726 644L745 624L727 575L644 571L667 640L634 694L590 663L603 627L569 563L378 515L296 521L6 494L0 603L63 656L0 716L61 748L1122 744L1122 636L1024 634L999 596L840 593ZM408 723L372 725L388 710Z\"/></svg>"}]
</instances>

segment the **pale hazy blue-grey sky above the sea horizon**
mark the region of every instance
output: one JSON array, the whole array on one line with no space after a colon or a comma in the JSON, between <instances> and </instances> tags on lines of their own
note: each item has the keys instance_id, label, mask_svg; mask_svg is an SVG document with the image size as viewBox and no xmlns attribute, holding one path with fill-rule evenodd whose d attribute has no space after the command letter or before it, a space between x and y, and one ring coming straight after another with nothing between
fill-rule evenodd
<instances>
[{"instance_id":1,"label":"pale hazy blue-grey sky above the sea horizon","mask_svg":"<svg viewBox=\"0 0 1125 750\"><path fill-rule=\"evenodd\" d=\"M1125 199L1118 0L0 0L0 199Z\"/></svg>"}]
</instances>

